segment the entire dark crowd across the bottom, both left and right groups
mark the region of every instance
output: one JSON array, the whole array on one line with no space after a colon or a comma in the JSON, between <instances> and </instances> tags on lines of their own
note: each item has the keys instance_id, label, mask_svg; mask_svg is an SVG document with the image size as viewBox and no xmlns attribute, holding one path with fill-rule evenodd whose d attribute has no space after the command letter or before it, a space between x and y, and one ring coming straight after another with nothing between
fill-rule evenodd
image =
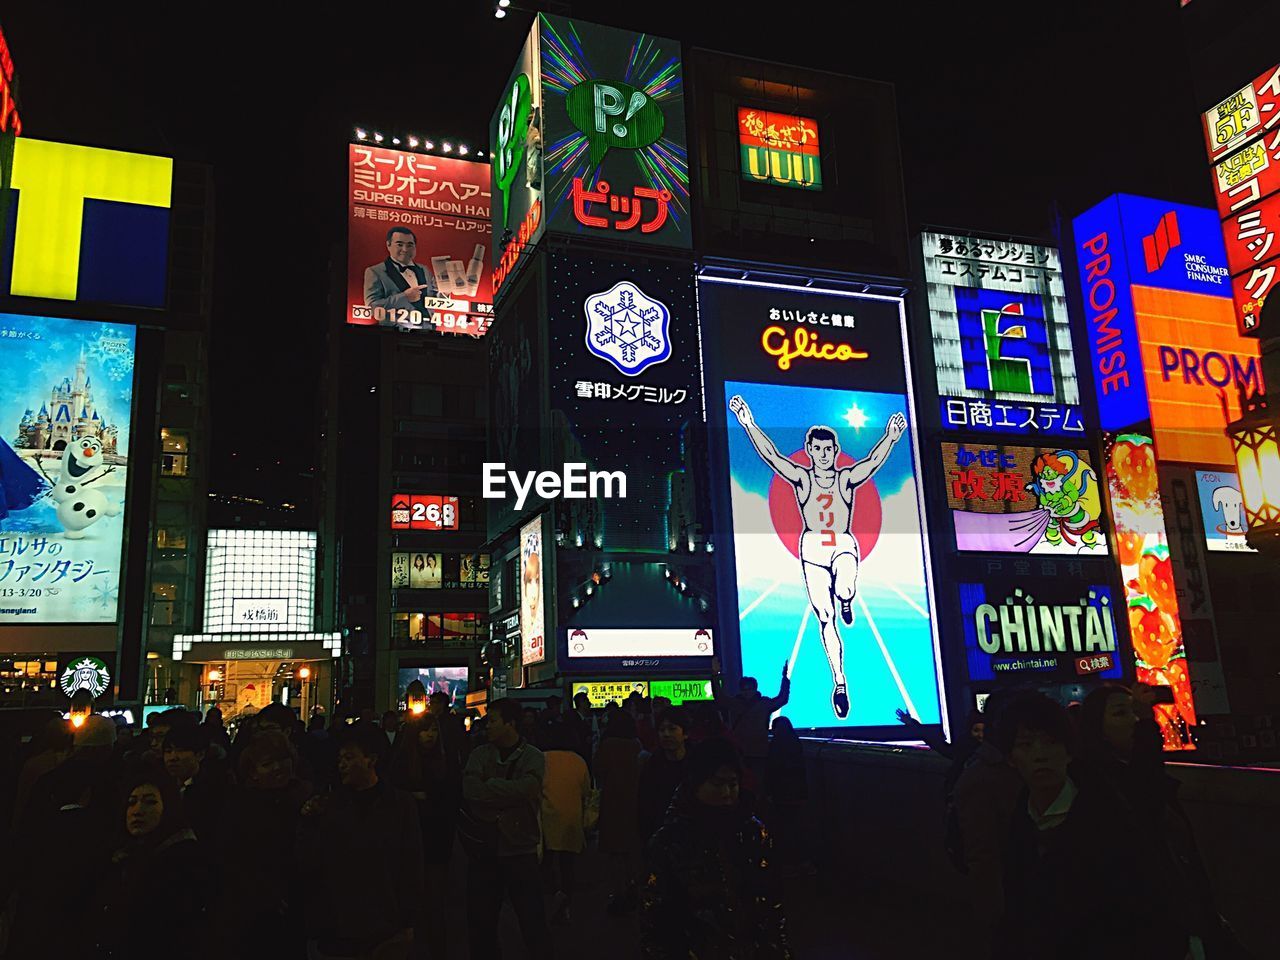
<instances>
[{"instance_id":1,"label":"entire dark crowd across the bottom, both left and right groups","mask_svg":"<svg viewBox=\"0 0 1280 960\"><path fill-rule=\"evenodd\" d=\"M776 716L787 676L773 698L750 678L716 694L503 699L467 723L445 694L378 723L303 726L271 705L234 737L216 708L143 731L51 718L0 806L0 956L434 960L465 897L471 957L499 956L509 904L526 955L548 960L594 845L645 960L788 960L781 883L814 868L803 746ZM992 695L933 746L951 759L947 850L974 891L966 938L992 956L1244 956L1144 689L1101 687L1074 716Z\"/></svg>"}]
</instances>

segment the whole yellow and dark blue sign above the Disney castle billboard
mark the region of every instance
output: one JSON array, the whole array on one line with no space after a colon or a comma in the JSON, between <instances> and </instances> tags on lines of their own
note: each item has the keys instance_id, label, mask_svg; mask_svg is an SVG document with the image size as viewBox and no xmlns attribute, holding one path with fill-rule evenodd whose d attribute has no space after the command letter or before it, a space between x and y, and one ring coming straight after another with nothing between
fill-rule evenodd
<instances>
[{"instance_id":1,"label":"whole yellow and dark blue sign above the Disney castle billboard","mask_svg":"<svg viewBox=\"0 0 1280 960\"><path fill-rule=\"evenodd\" d=\"M12 296L165 305L172 159L18 137L13 191Z\"/></svg>"}]
</instances>

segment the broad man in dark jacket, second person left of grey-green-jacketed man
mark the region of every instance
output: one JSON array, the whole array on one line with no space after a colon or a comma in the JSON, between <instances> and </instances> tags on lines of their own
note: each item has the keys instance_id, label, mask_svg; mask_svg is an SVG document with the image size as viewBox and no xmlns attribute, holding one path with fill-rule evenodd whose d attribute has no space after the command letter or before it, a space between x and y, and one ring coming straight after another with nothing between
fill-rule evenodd
<instances>
[{"instance_id":1,"label":"broad man in dark jacket, second person left of grey-green-jacketed man","mask_svg":"<svg viewBox=\"0 0 1280 960\"><path fill-rule=\"evenodd\" d=\"M412 797L378 776L385 735L342 731L333 794L302 808L298 861L311 879L306 932L314 956L378 951L406 957L422 902L422 833Z\"/></svg>"}]
</instances>

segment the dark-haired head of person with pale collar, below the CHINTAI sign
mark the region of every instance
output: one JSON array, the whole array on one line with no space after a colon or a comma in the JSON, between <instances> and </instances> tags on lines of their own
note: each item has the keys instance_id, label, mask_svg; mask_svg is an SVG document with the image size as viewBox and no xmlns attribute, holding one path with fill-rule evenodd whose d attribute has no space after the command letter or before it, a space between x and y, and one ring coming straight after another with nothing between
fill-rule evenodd
<instances>
[{"instance_id":1,"label":"dark-haired head of person with pale collar, below the CHINTAI sign","mask_svg":"<svg viewBox=\"0 0 1280 960\"><path fill-rule=\"evenodd\" d=\"M1032 803L1047 809L1066 785L1075 745L1066 709L1043 694L1025 694L1001 712L993 737L1027 785Z\"/></svg>"}]
</instances>

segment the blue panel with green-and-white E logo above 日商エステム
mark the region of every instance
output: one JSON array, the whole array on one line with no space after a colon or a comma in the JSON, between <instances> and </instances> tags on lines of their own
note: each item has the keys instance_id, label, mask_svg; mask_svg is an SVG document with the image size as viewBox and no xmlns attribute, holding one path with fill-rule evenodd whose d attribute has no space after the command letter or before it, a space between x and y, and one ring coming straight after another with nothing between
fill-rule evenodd
<instances>
[{"instance_id":1,"label":"blue panel with green-and-white E logo above \u65e5\u5546\u30a8\u30b9\u30c6\u30e0","mask_svg":"<svg viewBox=\"0 0 1280 960\"><path fill-rule=\"evenodd\" d=\"M965 387L1053 394L1048 323L1039 297L1009 300L1004 291L956 288Z\"/></svg>"}]
</instances>

